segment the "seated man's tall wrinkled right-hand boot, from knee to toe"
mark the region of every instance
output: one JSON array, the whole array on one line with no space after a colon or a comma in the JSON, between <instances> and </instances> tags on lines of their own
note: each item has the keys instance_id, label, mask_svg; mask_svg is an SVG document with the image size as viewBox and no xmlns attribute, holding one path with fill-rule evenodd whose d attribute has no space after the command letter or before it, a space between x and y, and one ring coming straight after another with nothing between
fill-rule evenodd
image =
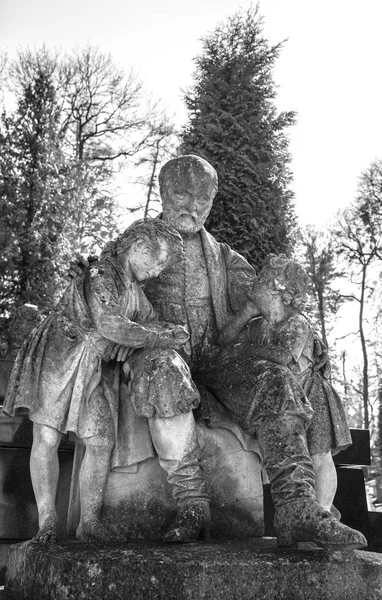
<instances>
[{"instance_id":1,"label":"seated man's tall wrinkled right-hand boot, from knee to toe","mask_svg":"<svg viewBox=\"0 0 382 600\"><path fill-rule=\"evenodd\" d=\"M320 507L314 492L314 470L304 421L293 413L272 414L256 423L275 504L274 526L279 547L314 542L326 549L363 548L365 537Z\"/></svg>"}]
</instances>

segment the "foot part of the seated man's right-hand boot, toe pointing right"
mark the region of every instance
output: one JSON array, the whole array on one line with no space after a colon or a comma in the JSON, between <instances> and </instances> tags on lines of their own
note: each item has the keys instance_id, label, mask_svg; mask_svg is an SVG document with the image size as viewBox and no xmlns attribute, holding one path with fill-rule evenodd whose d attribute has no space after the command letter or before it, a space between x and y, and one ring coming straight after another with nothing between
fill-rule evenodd
<instances>
[{"instance_id":1,"label":"foot part of the seated man's right-hand boot, toe pointing right","mask_svg":"<svg viewBox=\"0 0 382 600\"><path fill-rule=\"evenodd\" d=\"M327 550L364 548L366 538L334 518L312 500L285 504L276 509L277 545L297 548L298 542L314 542Z\"/></svg>"}]
</instances>

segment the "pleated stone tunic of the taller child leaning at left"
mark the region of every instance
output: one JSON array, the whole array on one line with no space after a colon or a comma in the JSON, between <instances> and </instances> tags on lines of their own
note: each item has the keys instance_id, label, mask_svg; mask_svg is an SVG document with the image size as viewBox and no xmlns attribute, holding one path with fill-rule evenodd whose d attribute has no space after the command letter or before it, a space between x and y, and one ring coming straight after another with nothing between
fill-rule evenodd
<instances>
[{"instance_id":1,"label":"pleated stone tunic of the taller child leaning at left","mask_svg":"<svg viewBox=\"0 0 382 600\"><path fill-rule=\"evenodd\" d=\"M17 357L4 411L29 408L32 421L79 437L114 435L118 397L101 381L115 343L154 347L156 315L120 263L106 259L71 282L56 312ZM146 322L144 327L136 321Z\"/></svg>"}]
</instances>

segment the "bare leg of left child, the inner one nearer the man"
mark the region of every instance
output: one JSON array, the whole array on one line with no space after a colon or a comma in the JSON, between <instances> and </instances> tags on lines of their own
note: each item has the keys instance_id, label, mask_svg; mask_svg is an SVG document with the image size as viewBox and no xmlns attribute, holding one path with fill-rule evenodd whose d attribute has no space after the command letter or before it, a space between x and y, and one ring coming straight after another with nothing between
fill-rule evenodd
<instances>
[{"instance_id":1,"label":"bare leg of left child, the inner one nearer the man","mask_svg":"<svg viewBox=\"0 0 382 600\"><path fill-rule=\"evenodd\" d=\"M84 438L83 442L86 451L79 477L81 517L77 537L111 541L117 536L100 521L114 442L102 435Z\"/></svg>"}]
</instances>

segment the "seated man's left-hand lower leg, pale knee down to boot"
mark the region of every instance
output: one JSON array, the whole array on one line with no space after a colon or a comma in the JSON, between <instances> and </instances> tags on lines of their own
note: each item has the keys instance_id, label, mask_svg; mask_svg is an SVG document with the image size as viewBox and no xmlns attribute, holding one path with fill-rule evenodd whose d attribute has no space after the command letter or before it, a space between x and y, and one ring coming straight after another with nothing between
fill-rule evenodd
<instances>
[{"instance_id":1,"label":"seated man's left-hand lower leg, pale knee down to boot","mask_svg":"<svg viewBox=\"0 0 382 600\"><path fill-rule=\"evenodd\" d=\"M167 473L178 504L165 542L195 542L210 523L209 495L200 467L200 448L192 412L152 417L150 432L160 466Z\"/></svg>"}]
</instances>

